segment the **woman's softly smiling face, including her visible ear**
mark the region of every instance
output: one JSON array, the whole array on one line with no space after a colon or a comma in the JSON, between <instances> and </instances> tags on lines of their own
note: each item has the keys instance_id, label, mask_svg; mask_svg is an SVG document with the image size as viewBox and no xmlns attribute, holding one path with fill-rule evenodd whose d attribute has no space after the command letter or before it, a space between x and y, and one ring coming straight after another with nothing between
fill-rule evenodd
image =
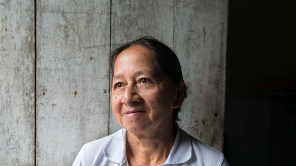
<instances>
[{"instance_id":1,"label":"woman's softly smiling face, including her visible ear","mask_svg":"<svg viewBox=\"0 0 296 166\"><path fill-rule=\"evenodd\" d=\"M171 125L176 99L166 74L157 73L154 56L143 46L123 50L116 58L112 109L119 124L131 133L153 132Z\"/></svg>"}]
</instances>

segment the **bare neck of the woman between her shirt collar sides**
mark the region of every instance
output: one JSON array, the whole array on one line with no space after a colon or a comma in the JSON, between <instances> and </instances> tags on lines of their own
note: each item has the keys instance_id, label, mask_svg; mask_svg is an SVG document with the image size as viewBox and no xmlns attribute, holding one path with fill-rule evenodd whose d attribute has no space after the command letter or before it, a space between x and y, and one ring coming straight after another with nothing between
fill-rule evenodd
<instances>
[{"instance_id":1,"label":"bare neck of the woman between her shirt collar sides","mask_svg":"<svg viewBox=\"0 0 296 166\"><path fill-rule=\"evenodd\" d=\"M173 123L149 135L127 131L126 155L129 165L160 165L165 163L176 139Z\"/></svg>"}]
</instances>

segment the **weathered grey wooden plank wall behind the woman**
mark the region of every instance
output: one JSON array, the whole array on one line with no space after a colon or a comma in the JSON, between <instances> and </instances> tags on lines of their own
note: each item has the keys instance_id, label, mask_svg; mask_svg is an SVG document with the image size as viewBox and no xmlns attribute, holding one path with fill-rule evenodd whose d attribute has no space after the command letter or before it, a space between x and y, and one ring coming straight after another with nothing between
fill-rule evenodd
<instances>
[{"instance_id":1,"label":"weathered grey wooden plank wall behind the woman","mask_svg":"<svg viewBox=\"0 0 296 166\"><path fill-rule=\"evenodd\" d=\"M71 165L83 144L120 129L108 54L143 35L180 59L180 127L222 151L227 8L228 0L0 0L0 165Z\"/></svg>"}]
</instances>

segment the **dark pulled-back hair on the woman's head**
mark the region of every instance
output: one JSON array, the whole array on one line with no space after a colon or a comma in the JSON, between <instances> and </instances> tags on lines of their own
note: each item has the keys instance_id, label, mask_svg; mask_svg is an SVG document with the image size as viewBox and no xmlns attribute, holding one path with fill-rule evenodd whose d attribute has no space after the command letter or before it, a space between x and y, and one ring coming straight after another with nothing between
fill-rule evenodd
<instances>
[{"instance_id":1,"label":"dark pulled-back hair on the woman's head","mask_svg":"<svg viewBox=\"0 0 296 166\"><path fill-rule=\"evenodd\" d=\"M170 82L174 87L178 87L180 81L184 81L181 65L176 54L163 42L151 36L144 36L126 44L116 45L113 48L110 54L112 78L114 76L114 64L118 55L123 50L135 45L146 47L152 53L152 55L154 55L154 61L157 69L159 71L163 71L169 76ZM180 107L173 109L173 121L180 120L178 117L179 111Z\"/></svg>"}]
</instances>

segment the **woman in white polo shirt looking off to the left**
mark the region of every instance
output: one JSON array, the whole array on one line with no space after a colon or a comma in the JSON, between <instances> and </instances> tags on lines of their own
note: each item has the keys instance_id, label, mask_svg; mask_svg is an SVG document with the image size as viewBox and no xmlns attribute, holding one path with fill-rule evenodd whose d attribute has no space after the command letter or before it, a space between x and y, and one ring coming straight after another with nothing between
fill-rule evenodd
<instances>
[{"instance_id":1,"label":"woman in white polo shirt looking off to the left","mask_svg":"<svg viewBox=\"0 0 296 166\"><path fill-rule=\"evenodd\" d=\"M222 153L175 122L186 96L180 62L150 36L111 53L112 109L123 129L85 144L73 166L227 166Z\"/></svg>"}]
</instances>

